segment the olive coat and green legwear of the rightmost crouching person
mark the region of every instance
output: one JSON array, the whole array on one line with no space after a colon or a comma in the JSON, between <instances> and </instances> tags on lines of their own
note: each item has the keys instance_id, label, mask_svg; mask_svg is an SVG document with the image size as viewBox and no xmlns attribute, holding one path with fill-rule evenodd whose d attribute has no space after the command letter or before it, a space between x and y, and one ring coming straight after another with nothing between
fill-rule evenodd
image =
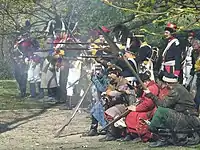
<instances>
[{"instance_id":1,"label":"olive coat and green legwear of the rightmost crouching person","mask_svg":"<svg viewBox=\"0 0 200 150\"><path fill-rule=\"evenodd\" d=\"M167 80L167 77L165 80ZM174 82L176 80L169 81ZM178 134L176 131L186 129L190 129L192 131L192 129L200 127L200 119L198 118L198 113L194 107L195 103L191 94L182 85L174 83L170 86L171 89L169 94L162 101L160 101L160 99L152 93L146 94L146 97L151 98L158 106L149 128L153 133L157 133L162 129L165 131L174 131L175 135L172 135L170 138L171 144L179 142L180 145L183 143L190 144L191 139L187 141L190 136L189 134ZM197 133L197 135L199 134L198 132L195 133ZM192 135L194 136L194 134ZM176 138L174 138L174 136ZM163 146L169 142L169 140L165 139L166 137L161 137L164 139L164 142L157 141L153 146Z\"/></svg>"}]
</instances>

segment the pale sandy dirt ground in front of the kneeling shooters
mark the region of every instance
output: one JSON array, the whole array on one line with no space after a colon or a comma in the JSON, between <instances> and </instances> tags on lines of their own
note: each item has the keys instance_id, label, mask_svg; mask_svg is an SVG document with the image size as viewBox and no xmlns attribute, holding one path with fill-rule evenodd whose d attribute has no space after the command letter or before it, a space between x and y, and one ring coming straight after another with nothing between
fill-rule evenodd
<instances>
[{"instance_id":1,"label":"pale sandy dirt ground in front of the kneeling shooters","mask_svg":"<svg viewBox=\"0 0 200 150\"><path fill-rule=\"evenodd\" d=\"M73 111L51 108L0 111L0 150L148 150L148 143L99 142L96 137L82 137L90 124L89 114L79 111L62 137L54 138L56 131L68 121ZM172 149L172 147L162 148ZM174 150L187 148L173 147ZM197 149L195 147L189 148Z\"/></svg>"}]
</instances>

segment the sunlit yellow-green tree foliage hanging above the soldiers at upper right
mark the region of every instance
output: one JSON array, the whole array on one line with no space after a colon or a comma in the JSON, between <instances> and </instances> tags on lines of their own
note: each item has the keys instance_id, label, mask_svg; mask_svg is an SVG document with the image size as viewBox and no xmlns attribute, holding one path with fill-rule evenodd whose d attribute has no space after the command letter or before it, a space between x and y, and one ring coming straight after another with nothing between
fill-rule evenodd
<instances>
[{"instance_id":1,"label":"sunlit yellow-green tree foliage hanging above the soldiers at upper right","mask_svg":"<svg viewBox=\"0 0 200 150\"><path fill-rule=\"evenodd\" d=\"M134 33L144 34L149 43L162 45L163 30L167 22L177 24L178 31L199 27L200 1L155 0L103 0L110 7L135 14L128 25Z\"/></svg>"}]
</instances>

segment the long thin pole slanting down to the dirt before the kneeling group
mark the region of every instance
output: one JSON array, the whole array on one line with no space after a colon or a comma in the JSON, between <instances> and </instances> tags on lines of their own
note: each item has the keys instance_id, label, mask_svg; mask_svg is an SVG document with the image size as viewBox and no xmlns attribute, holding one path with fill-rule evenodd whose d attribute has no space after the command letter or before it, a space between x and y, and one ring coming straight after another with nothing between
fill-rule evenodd
<instances>
[{"instance_id":1,"label":"long thin pole slanting down to the dirt before the kneeling group","mask_svg":"<svg viewBox=\"0 0 200 150\"><path fill-rule=\"evenodd\" d=\"M80 101L79 101L78 104L76 105L76 108L75 108L75 110L74 110L72 116L70 117L69 121L68 121L66 124L64 124L64 125L62 126L62 128L60 128L60 129L58 130L58 132L56 133L55 137L59 137L59 135L61 134L61 132L65 129L66 126L68 126L68 125L70 124L70 122L72 121L72 119L75 117L75 115L76 115L78 109L80 108L80 106L81 106L83 100L85 99L85 97L86 97L86 95L87 95L87 93L88 93L88 91L89 91L89 89L90 89L91 86L92 86L92 82L89 83L89 85L88 85L88 87L87 87L87 89L86 89L86 91L85 91L83 97L80 99Z\"/></svg>"}]
</instances>

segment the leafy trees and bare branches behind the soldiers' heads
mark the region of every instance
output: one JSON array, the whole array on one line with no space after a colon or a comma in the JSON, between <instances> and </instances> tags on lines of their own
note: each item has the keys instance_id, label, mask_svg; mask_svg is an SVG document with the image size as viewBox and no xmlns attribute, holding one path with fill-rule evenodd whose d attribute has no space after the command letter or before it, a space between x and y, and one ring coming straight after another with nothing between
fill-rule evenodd
<instances>
[{"instance_id":1,"label":"leafy trees and bare branches behind the soldiers' heads","mask_svg":"<svg viewBox=\"0 0 200 150\"><path fill-rule=\"evenodd\" d=\"M199 0L0 0L0 79L12 78L10 50L26 20L31 22L32 36L38 37L41 48L43 27L58 15L78 23L82 40L87 40L88 31L98 26L112 29L124 24L162 49L167 22L177 24L181 35L196 30L198 36L199 14Z\"/></svg>"}]
</instances>

